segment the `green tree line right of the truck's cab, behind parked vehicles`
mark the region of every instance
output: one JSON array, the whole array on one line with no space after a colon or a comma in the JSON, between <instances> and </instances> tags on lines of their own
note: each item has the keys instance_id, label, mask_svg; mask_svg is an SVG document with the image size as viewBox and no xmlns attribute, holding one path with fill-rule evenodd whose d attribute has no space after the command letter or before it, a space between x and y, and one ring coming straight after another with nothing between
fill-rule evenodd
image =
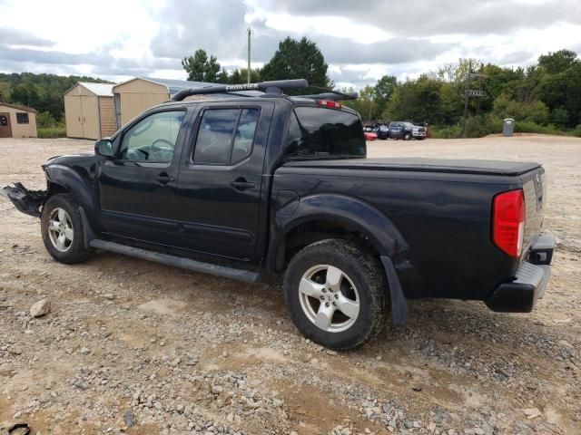
<instances>
[{"instance_id":1,"label":"green tree line right of the truck's cab, behind parked vehicles","mask_svg":"<svg viewBox=\"0 0 581 435\"><path fill-rule=\"evenodd\" d=\"M516 69L460 59L417 79L384 76L347 104L364 120L426 122L444 137L499 132L505 118L517 131L581 135L581 61L569 50Z\"/></svg>"}]
</instances>

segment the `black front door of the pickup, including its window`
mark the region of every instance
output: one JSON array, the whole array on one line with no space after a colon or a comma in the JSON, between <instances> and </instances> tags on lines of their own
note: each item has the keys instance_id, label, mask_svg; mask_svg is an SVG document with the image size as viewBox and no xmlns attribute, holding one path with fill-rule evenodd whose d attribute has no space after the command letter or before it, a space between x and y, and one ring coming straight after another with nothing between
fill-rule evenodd
<instances>
[{"instance_id":1,"label":"black front door of the pickup, including its window","mask_svg":"<svg viewBox=\"0 0 581 435\"><path fill-rule=\"evenodd\" d=\"M175 186L186 111L163 110L133 122L119 150L97 170L101 218L113 236L176 243Z\"/></svg>"}]
</instances>

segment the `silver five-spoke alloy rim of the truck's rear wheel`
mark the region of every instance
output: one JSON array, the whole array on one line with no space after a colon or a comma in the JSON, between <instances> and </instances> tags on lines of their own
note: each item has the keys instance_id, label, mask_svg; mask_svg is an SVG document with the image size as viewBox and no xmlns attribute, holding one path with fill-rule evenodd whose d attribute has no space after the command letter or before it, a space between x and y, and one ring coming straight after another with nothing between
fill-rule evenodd
<instances>
[{"instance_id":1,"label":"silver five-spoke alloy rim of the truck's rear wheel","mask_svg":"<svg viewBox=\"0 0 581 435\"><path fill-rule=\"evenodd\" d=\"M359 293L339 267L310 267L300 278L299 299L311 323L329 333L348 330L359 317Z\"/></svg>"}]
</instances>

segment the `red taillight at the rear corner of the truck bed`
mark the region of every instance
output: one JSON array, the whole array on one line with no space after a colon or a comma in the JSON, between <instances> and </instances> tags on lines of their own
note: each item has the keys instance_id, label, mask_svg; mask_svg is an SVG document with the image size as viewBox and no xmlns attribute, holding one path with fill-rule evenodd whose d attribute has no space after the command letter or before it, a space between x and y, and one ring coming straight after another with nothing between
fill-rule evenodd
<instances>
[{"instance_id":1,"label":"red taillight at the rear corner of the truck bed","mask_svg":"<svg viewBox=\"0 0 581 435\"><path fill-rule=\"evenodd\" d=\"M507 256L520 256L525 233L522 189L499 193L492 205L492 240Z\"/></svg>"}]
</instances>

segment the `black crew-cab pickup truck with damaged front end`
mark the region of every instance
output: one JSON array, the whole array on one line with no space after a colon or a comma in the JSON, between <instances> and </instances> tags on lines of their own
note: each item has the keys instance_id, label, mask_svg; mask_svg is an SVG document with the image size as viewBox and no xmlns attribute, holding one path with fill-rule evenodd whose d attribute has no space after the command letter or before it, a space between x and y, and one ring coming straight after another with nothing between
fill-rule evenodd
<instances>
[{"instance_id":1,"label":"black crew-cab pickup truck with damaged front end","mask_svg":"<svg viewBox=\"0 0 581 435\"><path fill-rule=\"evenodd\" d=\"M48 160L46 190L3 192L65 264L104 249L247 282L284 275L292 321L331 349L368 341L389 309L405 322L413 298L533 309L555 245L541 165L367 159L349 96L283 93L305 86L178 92L94 153Z\"/></svg>"}]
</instances>

